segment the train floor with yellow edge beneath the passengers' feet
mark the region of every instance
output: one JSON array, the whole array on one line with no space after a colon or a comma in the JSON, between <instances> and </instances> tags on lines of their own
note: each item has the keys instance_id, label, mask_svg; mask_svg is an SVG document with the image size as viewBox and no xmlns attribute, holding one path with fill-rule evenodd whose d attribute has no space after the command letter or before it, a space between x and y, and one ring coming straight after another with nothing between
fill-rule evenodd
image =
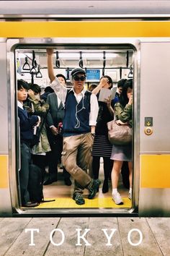
<instances>
[{"instance_id":1,"label":"train floor with yellow edge beneath the passengers' feet","mask_svg":"<svg viewBox=\"0 0 170 256\"><path fill-rule=\"evenodd\" d=\"M53 202L43 202L37 208L131 208L131 201L128 199L128 189L122 184L120 175L120 182L118 190L122 196L123 205L116 205L112 200L112 184L109 180L109 192L102 193L102 185L104 181L103 164L100 164L99 179L101 185L99 192L93 200L88 199L88 190L84 189L84 205L77 205L72 199L73 196L73 179L71 186L66 186L63 180L63 170L58 168L58 181L53 184L43 186L45 200L53 200Z\"/></svg>"}]
</instances>

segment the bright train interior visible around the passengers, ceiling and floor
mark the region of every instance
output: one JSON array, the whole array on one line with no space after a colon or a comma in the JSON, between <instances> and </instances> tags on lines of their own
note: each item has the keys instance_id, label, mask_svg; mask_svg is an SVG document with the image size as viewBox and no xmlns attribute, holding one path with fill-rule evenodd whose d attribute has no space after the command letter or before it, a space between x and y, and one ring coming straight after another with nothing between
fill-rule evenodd
<instances>
[{"instance_id":1,"label":"bright train interior visible around the passengers, ceiling and floor","mask_svg":"<svg viewBox=\"0 0 170 256\"><path fill-rule=\"evenodd\" d=\"M50 46L52 47L52 46ZM86 84L88 90L92 84L98 85L102 75L109 75L113 81L113 88L117 87L117 81L122 78L133 78L134 73L134 50L132 46L54 46L53 67L55 74L63 74L67 80L67 87L71 88L69 74L75 67L86 69ZM16 80L22 79L40 85L41 93L50 84L47 68L47 54L45 46L17 46L14 51ZM37 67L32 64L37 63ZM32 69L33 68L33 69ZM19 155L18 155L19 158ZM57 171L57 170L56 170ZM45 168L45 177L48 176L48 161ZM127 178L126 174L126 178ZM123 205L115 205L112 201L112 183L109 178L109 192L102 192L104 181L103 159L100 158L99 179L102 184L99 192L93 200L88 200L88 191L84 191L84 205L76 205L72 199L72 185L66 186L63 180L62 164L58 163L58 181L43 186L45 200L55 200L53 202L43 202L34 210L50 209L56 211L68 210L76 211L109 211L130 210L132 201L128 199L128 184L120 175L118 190L123 197ZM133 184L134 186L134 184ZM23 208L22 208L23 210Z\"/></svg>"}]
</instances>

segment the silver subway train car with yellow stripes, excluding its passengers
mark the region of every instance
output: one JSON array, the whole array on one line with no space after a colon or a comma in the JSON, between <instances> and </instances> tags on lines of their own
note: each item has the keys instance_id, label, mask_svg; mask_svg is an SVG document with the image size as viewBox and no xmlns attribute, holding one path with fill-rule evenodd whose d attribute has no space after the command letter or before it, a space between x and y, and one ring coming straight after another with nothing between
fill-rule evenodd
<instances>
[{"instance_id":1,"label":"silver subway train car with yellow stripes, excluding its passengers","mask_svg":"<svg viewBox=\"0 0 170 256\"><path fill-rule=\"evenodd\" d=\"M169 18L169 1L1 1L0 216L170 216ZM46 48L68 87L77 66L89 72L86 88L102 74L115 86L133 78L132 201L124 191L125 204L115 205L110 184L108 195L79 206L73 185L58 181L44 186L55 202L21 207L17 79L48 85ZM23 70L34 56L39 74Z\"/></svg>"}]
</instances>

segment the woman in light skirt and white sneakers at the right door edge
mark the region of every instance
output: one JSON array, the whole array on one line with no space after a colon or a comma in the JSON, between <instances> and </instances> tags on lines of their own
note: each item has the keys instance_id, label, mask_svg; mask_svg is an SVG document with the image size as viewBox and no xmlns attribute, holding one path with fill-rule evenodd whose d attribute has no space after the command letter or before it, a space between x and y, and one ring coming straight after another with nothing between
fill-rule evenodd
<instances>
[{"instance_id":1,"label":"woman in light skirt and white sneakers at the right door edge","mask_svg":"<svg viewBox=\"0 0 170 256\"><path fill-rule=\"evenodd\" d=\"M112 110L113 111L113 110ZM133 112L133 80L130 79L125 82L122 90L122 95L120 96L120 103L115 104L115 117L117 124L125 125L129 124L132 127L132 112ZM129 145L112 145L112 155L111 158L114 160L112 168L112 199L115 204L122 205L122 197L120 193L117 192L117 184L119 181L120 171L122 168L123 161L128 161L129 168L129 199L132 199L132 176L133 176L133 166L132 166L132 143Z\"/></svg>"}]
</instances>

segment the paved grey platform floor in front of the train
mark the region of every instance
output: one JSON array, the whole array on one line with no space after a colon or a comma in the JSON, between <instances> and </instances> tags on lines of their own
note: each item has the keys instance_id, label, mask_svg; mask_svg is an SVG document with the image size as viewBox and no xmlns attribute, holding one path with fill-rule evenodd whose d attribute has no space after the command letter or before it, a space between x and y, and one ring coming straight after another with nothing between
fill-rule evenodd
<instances>
[{"instance_id":1,"label":"paved grey platform floor in front of the train","mask_svg":"<svg viewBox=\"0 0 170 256\"><path fill-rule=\"evenodd\" d=\"M30 246L30 232L25 229L39 229L35 232L35 246ZM61 242L61 229L65 236ZM78 243L76 229L90 229ZM107 244L107 237L102 229L116 229ZM128 242L131 229L139 229L143 239L138 246ZM50 242L53 233L53 243ZM131 242L139 242L138 232L133 231ZM170 255L170 218L0 218L0 255L20 256L159 256Z\"/></svg>"}]
</instances>

